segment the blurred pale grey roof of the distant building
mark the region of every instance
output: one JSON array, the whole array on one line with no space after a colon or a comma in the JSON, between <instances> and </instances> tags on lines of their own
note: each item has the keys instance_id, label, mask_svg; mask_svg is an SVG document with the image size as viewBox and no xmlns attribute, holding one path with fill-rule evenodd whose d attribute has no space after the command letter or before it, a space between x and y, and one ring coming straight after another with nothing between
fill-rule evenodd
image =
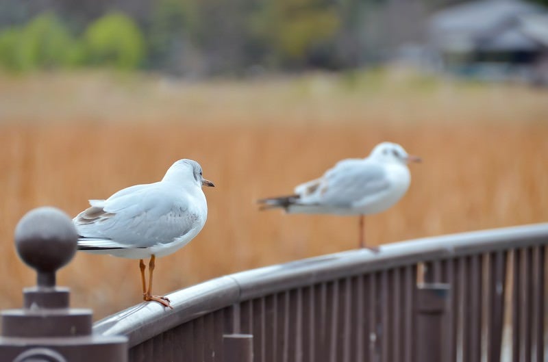
<instances>
[{"instance_id":1,"label":"blurred pale grey roof of the distant building","mask_svg":"<svg viewBox=\"0 0 548 362\"><path fill-rule=\"evenodd\" d=\"M519 0L473 1L434 14L429 35L434 46L444 51L536 49L536 41L520 29L521 18L544 11ZM538 33L539 25L531 27L531 32Z\"/></svg>"}]
</instances>

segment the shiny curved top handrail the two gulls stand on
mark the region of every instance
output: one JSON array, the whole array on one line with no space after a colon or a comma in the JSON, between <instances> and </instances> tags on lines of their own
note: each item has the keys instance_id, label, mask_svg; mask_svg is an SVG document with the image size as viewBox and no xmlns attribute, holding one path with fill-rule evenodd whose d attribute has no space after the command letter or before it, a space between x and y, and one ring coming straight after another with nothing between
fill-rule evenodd
<instances>
[{"instance_id":1,"label":"shiny curved top handrail the two gulls stand on","mask_svg":"<svg viewBox=\"0 0 548 362\"><path fill-rule=\"evenodd\" d=\"M173 310L141 303L93 326L101 335L126 335L129 347L200 315L238 302L348 276L435 261L548 244L548 223L426 237L381 247L379 253L349 250L238 272L169 294Z\"/></svg>"}]
</instances>

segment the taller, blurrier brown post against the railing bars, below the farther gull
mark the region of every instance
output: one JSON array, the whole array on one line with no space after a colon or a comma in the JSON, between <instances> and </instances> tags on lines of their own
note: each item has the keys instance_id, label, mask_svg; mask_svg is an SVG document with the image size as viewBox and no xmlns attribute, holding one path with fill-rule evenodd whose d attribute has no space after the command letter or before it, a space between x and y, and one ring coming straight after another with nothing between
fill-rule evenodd
<instances>
[{"instance_id":1,"label":"taller, blurrier brown post against the railing bars, below the farther gull","mask_svg":"<svg viewBox=\"0 0 548 362\"><path fill-rule=\"evenodd\" d=\"M416 362L449 362L445 353L448 284L419 285L416 293Z\"/></svg>"}]
</instances>

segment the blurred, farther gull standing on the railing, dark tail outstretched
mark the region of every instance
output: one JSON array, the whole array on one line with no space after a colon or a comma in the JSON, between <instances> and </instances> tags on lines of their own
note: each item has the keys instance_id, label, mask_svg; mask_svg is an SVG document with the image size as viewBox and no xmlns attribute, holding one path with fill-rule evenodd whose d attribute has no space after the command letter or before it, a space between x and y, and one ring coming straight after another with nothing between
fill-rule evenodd
<instances>
[{"instance_id":1,"label":"blurred, farther gull standing on the railing, dark tail outstretched","mask_svg":"<svg viewBox=\"0 0 548 362\"><path fill-rule=\"evenodd\" d=\"M407 192L411 161L421 158L408 155L399 144L382 142L369 157L343 159L319 179L298 185L295 194L258 202L262 210L281 207L288 214L359 215L360 248L364 248L364 215L388 209Z\"/></svg>"}]
</instances>

